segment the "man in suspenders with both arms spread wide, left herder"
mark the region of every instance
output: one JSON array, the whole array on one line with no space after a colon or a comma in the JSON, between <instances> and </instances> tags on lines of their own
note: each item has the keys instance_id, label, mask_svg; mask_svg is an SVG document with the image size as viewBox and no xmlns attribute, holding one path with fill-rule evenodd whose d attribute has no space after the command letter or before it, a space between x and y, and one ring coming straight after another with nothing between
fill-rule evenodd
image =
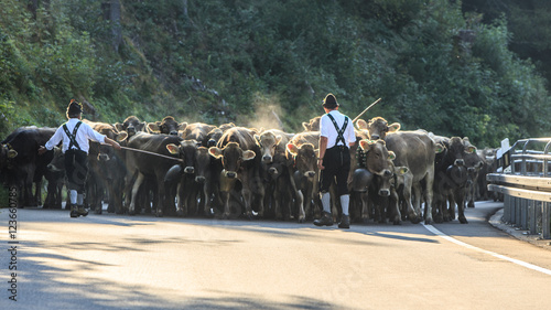
<instances>
[{"instance_id":1,"label":"man in suspenders with both arms spread wide, left herder","mask_svg":"<svg viewBox=\"0 0 551 310\"><path fill-rule=\"evenodd\" d=\"M62 151L65 153L65 173L67 174L67 189L71 199L71 217L88 215L84 207L84 193L86 175L88 174L89 141L109 143L120 150L120 145L112 139L94 130L88 124L83 122L83 105L71 100L67 107L67 122L60 126L54 136L45 146L40 147L39 154L53 149L63 141Z\"/></svg>"}]
</instances>

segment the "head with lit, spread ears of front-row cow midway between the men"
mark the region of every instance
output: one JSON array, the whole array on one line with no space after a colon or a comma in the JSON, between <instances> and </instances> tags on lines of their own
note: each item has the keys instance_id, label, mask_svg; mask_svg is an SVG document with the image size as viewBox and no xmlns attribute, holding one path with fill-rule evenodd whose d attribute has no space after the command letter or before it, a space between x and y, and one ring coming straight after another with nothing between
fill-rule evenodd
<instances>
[{"instance_id":1,"label":"head with lit, spread ears of front-row cow midway between the men","mask_svg":"<svg viewBox=\"0 0 551 310\"><path fill-rule=\"evenodd\" d=\"M251 160L256 156L255 151L242 150L237 142L228 142L223 149L210 147L208 153L214 158L222 159L224 175L229 179L237 178L242 162Z\"/></svg>"}]
</instances>

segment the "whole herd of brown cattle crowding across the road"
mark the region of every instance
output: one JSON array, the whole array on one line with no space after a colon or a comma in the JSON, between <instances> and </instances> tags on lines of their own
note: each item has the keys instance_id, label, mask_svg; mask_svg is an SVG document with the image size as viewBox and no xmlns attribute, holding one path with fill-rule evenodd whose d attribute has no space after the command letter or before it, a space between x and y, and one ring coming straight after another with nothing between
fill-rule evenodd
<instances>
[{"instance_id":1,"label":"whole herd of brown cattle crowding across the road","mask_svg":"<svg viewBox=\"0 0 551 310\"><path fill-rule=\"evenodd\" d=\"M321 214L320 117L303 122L304 131L296 133L177 122L170 116L149 124L134 116L115 125L84 121L123 147L117 151L90 142L85 203L98 214L102 203L108 212L130 215L302 223ZM488 199L485 175L495 170L495 150L477 151L468 138L400 130L381 117L355 126L348 178L353 221L441 223L455 220L457 209L458 221L467 223L465 206ZM45 178L43 207L62 207L63 153L58 148L37 153L54 132L21 127L1 142L0 181L19 189L20 206L42 204ZM332 202L334 221L338 203Z\"/></svg>"}]
</instances>

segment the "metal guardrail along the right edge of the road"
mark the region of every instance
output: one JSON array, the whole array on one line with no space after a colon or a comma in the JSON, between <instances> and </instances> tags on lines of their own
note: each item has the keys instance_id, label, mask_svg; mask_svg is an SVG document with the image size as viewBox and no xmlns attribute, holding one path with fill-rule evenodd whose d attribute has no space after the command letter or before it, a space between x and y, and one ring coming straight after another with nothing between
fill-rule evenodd
<instances>
[{"instance_id":1,"label":"metal guardrail along the right edge of the road","mask_svg":"<svg viewBox=\"0 0 551 310\"><path fill-rule=\"evenodd\" d=\"M504 221L551 238L551 138L518 140L503 153L504 173L486 175L488 191L504 195Z\"/></svg>"}]
</instances>

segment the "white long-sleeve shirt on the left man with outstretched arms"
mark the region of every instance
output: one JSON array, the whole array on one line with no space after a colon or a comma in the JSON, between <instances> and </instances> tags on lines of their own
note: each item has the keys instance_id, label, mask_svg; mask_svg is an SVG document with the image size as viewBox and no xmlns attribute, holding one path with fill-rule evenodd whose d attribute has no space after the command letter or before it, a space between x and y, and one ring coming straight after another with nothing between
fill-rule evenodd
<instances>
[{"instance_id":1,"label":"white long-sleeve shirt on the left man with outstretched arms","mask_svg":"<svg viewBox=\"0 0 551 310\"><path fill-rule=\"evenodd\" d=\"M75 126L78 121L80 121L78 118L69 118L69 120L65 122L67 125L68 131L72 135L73 135L73 129L75 129ZM88 153L88 150L90 149L88 140L94 140L96 142L105 143L105 136L94 130L88 124L83 122L80 124L80 127L78 127L78 130L76 131L76 142L80 147L80 150L85 151L86 153ZM45 147L46 149L51 150L55 146L57 146L61 141L63 141L62 151L66 152L71 143L71 139L67 137L67 133L65 133L63 125L60 126L60 128L57 128L54 136L52 136L52 138L50 138L50 140L46 142ZM73 149L77 148L73 146Z\"/></svg>"}]
</instances>

